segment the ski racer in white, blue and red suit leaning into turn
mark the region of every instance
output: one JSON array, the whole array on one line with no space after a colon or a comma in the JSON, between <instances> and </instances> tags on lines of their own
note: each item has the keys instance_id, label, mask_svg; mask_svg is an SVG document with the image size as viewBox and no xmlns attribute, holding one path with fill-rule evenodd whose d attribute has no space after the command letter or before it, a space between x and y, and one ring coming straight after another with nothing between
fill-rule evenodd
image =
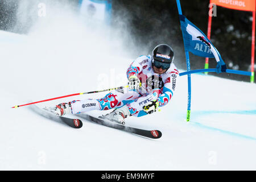
<instances>
[{"instance_id":1,"label":"ski racer in white, blue and red suit leaning into turn","mask_svg":"<svg viewBox=\"0 0 256 182\"><path fill-rule=\"evenodd\" d=\"M79 114L90 110L109 110L103 118L125 124L128 116L152 114L167 105L174 95L179 71L174 51L167 44L154 48L152 55L139 56L127 69L127 88L117 89L100 99L76 100L56 105L57 115Z\"/></svg>"}]
</instances>

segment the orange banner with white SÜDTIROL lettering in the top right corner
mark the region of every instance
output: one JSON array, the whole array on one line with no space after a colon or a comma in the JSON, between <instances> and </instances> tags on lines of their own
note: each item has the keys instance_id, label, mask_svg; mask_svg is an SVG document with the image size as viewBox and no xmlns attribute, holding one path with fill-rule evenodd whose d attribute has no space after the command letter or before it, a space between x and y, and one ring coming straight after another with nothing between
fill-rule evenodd
<instances>
[{"instance_id":1,"label":"orange banner with white S\u00dcDTIROL lettering in the top right corner","mask_svg":"<svg viewBox=\"0 0 256 182\"><path fill-rule=\"evenodd\" d=\"M218 6L241 11L255 11L255 0L211 0Z\"/></svg>"}]
</instances>

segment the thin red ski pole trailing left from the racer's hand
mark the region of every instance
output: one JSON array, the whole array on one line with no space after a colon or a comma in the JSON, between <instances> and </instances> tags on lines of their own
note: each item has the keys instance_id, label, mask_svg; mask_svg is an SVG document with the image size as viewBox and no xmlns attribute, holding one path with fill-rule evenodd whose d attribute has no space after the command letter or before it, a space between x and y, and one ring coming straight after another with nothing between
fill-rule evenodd
<instances>
[{"instance_id":1,"label":"thin red ski pole trailing left from the racer's hand","mask_svg":"<svg viewBox=\"0 0 256 182\"><path fill-rule=\"evenodd\" d=\"M79 96L79 95L89 94L89 93L106 92L106 91L110 91L110 90L117 90L117 89L122 89L122 88L127 88L127 87L129 87L129 86L126 85L126 86L119 86L119 87L117 87L117 88L105 89L105 90L96 90L96 91L92 91L92 92L74 93L74 94L69 94L69 95L67 95L67 96L60 96L60 97L55 97L55 98L48 98L47 100L31 102L31 103L23 104L23 105L16 105L16 106L13 106L13 107L11 107L11 108L18 108L18 107L21 107L21 106L27 106L27 105L31 105L31 104L37 104L37 103L40 103L40 102L52 101L52 100L56 100L56 99L59 99L59 98L65 98L65 97L71 97L71 96Z\"/></svg>"}]
</instances>

